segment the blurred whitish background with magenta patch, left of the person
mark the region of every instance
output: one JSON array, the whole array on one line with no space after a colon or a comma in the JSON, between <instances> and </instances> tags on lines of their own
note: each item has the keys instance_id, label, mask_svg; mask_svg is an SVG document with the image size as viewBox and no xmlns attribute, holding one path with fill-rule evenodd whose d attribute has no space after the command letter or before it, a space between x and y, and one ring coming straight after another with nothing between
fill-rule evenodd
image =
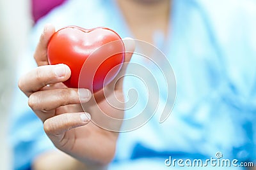
<instances>
[{"instance_id":1,"label":"blurred whitish background with magenta patch, left of the person","mask_svg":"<svg viewBox=\"0 0 256 170\"><path fill-rule=\"evenodd\" d=\"M18 80L15 74L19 64L17 60L28 49L31 27L63 1L65 0L0 0L0 169L12 169L7 134L10 103Z\"/></svg>"}]
</instances>

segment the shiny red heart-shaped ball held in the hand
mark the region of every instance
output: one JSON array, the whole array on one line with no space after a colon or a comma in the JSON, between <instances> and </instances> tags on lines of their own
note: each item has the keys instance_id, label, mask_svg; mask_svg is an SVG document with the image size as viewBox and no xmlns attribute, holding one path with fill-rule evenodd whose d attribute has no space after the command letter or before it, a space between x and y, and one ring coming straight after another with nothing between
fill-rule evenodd
<instances>
[{"instance_id":1,"label":"shiny red heart-shaped ball held in the hand","mask_svg":"<svg viewBox=\"0 0 256 170\"><path fill-rule=\"evenodd\" d=\"M50 64L70 67L71 76L63 82L67 87L97 92L118 74L124 52L124 42L111 29L68 26L52 35L47 55Z\"/></svg>"}]
</instances>

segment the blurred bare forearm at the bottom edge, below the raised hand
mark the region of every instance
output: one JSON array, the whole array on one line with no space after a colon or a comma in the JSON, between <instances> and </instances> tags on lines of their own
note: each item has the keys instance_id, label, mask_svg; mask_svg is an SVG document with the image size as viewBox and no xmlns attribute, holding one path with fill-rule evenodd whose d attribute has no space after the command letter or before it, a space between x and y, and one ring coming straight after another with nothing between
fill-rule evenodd
<instances>
[{"instance_id":1,"label":"blurred bare forearm at the bottom edge, below the raised hand","mask_svg":"<svg viewBox=\"0 0 256 170\"><path fill-rule=\"evenodd\" d=\"M95 164L84 164L70 155L63 153L59 150L51 150L42 153L33 162L33 170L106 170L106 166L99 166Z\"/></svg>"}]
</instances>

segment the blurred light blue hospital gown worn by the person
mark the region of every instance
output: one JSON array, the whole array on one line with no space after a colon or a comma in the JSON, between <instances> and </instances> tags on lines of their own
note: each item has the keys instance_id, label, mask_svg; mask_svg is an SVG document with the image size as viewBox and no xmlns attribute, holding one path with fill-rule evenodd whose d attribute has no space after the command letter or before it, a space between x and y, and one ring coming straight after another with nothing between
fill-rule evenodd
<instances>
[{"instance_id":1,"label":"blurred light blue hospital gown worn by the person","mask_svg":"<svg viewBox=\"0 0 256 170\"><path fill-rule=\"evenodd\" d=\"M115 1L67 1L35 25L31 49L20 57L17 77L36 67L33 51L47 22L57 28L110 27L122 38L132 37ZM255 1L173 0L170 23L167 38L161 32L153 36L154 45L163 51L175 73L177 96L172 114L159 124L161 111L156 111L147 124L121 133L109 169L179 169L166 167L164 160L169 156L205 160L217 152L225 159L255 161ZM147 66L138 57L131 62ZM157 71L153 74L159 82L161 106L166 87ZM137 89L141 97L125 117L136 115L147 102L140 81L125 78L124 91L130 88ZM14 169L29 169L36 155L54 148L27 101L17 89L10 118Z\"/></svg>"}]
</instances>

